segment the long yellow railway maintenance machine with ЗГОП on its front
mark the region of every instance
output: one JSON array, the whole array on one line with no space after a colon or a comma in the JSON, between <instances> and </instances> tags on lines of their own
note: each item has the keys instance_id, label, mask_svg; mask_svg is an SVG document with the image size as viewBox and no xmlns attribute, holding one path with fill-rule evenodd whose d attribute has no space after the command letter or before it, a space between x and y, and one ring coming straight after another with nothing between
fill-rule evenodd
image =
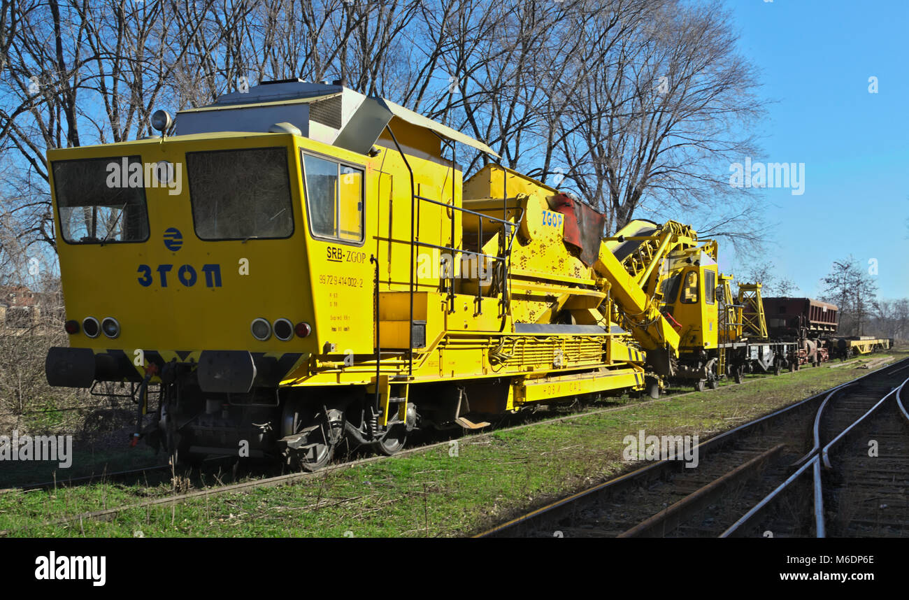
<instances>
[{"instance_id":1,"label":"long yellow railway maintenance machine with \u0417\u0413\u041e\u041f on its front","mask_svg":"<svg viewBox=\"0 0 909 600\"><path fill-rule=\"evenodd\" d=\"M316 469L345 436L394 454L415 427L658 393L680 344L715 344L698 305L715 244L635 271L557 190L498 165L462 182L454 143L494 155L384 99L283 81L182 111L175 135L49 151L70 335L49 383L128 384L134 444L182 460ZM666 233L662 251L694 239ZM709 326L660 314L670 271L669 312Z\"/></svg>"}]
</instances>

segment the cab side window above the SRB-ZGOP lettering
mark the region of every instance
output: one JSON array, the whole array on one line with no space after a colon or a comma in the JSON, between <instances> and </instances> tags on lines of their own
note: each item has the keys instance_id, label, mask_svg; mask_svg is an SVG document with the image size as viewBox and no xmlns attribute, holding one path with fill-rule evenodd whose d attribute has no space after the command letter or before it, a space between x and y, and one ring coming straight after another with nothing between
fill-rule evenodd
<instances>
[{"instance_id":1,"label":"cab side window above the SRB-ZGOP lettering","mask_svg":"<svg viewBox=\"0 0 909 600\"><path fill-rule=\"evenodd\" d=\"M306 211L312 233L344 242L363 241L363 170L303 155Z\"/></svg>"}]
</instances>

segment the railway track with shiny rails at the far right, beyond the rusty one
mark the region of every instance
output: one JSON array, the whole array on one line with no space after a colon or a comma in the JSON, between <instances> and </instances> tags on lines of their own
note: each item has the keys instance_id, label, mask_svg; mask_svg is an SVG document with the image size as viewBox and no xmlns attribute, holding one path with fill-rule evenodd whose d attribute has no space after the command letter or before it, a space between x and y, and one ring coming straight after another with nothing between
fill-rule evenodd
<instances>
[{"instance_id":1,"label":"railway track with shiny rails at the far right, beyond the rusty one","mask_svg":"<svg viewBox=\"0 0 909 600\"><path fill-rule=\"evenodd\" d=\"M831 394L819 409L812 452L723 536L903 536L909 525L909 365L884 385ZM826 408L827 410L824 410Z\"/></svg>"}]
</instances>

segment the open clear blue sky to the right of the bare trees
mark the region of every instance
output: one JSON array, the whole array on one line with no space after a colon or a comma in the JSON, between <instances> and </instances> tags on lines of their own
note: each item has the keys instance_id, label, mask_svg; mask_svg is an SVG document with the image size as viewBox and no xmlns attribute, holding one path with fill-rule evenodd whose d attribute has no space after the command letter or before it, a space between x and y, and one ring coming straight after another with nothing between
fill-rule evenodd
<instances>
[{"instance_id":1,"label":"open clear blue sky to the right of the bare trees","mask_svg":"<svg viewBox=\"0 0 909 600\"><path fill-rule=\"evenodd\" d=\"M761 191L767 256L797 295L820 295L834 260L877 259L881 298L909 296L909 2L727 0L762 70L765 155L804 163L804 195ZM878 93L868 79L877 77ZM734 256L721 253L724 271Z\"/></svg>"}]
</instances>

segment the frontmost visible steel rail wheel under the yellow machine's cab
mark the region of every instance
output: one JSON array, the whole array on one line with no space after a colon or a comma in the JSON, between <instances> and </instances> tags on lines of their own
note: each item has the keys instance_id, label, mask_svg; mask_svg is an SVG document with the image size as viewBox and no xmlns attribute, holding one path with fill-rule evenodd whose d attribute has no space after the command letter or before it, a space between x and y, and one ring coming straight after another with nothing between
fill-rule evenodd
<instances>
[{"instance_id":1,"label":"frontmost visible steel rail wheel under the yellow machine's cab","mask_svg":"<svg viewBox=\"0 0 909 600\"><path fill-rule=\"evenodd\" d=\"M344 435L344 413L335 408L288 402L281 422L285 436L306 435L305 443L290 449L287 455L288 464L305 471L317 471L328 465Z\"/></svg>"}]
</instances>

